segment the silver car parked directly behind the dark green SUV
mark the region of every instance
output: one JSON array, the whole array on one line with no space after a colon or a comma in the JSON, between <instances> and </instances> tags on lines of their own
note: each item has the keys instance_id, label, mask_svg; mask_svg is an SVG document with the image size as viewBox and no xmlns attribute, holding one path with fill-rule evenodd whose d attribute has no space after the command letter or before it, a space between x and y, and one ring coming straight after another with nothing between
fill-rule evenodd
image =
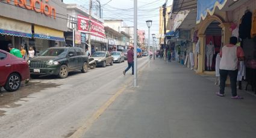
<instances>
[{"instance_id":1,"label":"silver car parked directly behind the dark green SUV","mask_svg":"<svg viewBox=\"0 0 256 138\"><path fill-rule=\"evenodd\" d=\"M113 65L114 58L110 55L110 52L94 52L92 58L95 59L97 66L106 67L107 64Z\"/></svg>"}]
</instances>

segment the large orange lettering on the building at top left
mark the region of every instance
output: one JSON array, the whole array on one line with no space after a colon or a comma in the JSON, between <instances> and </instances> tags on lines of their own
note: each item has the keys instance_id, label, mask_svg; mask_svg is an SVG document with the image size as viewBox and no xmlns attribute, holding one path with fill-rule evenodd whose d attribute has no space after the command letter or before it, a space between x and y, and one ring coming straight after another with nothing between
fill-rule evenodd
<instances>
[{"instance_id":1,"label":"large orange lettering on the building at top left","mask_svg":"<svg viewBox=\"0 0 256 138\"><path fill-rule=\"evenodd\" d=\"M6 1L8 4L15 5L20 8L25 8L27 10L33 10L36 13L42 13L49 17L54 17L56 19L56 10L54 7L48 4L49 0L0 0ZM12 3L11 3L12 2Z\"/></svg>"}]
</instances>

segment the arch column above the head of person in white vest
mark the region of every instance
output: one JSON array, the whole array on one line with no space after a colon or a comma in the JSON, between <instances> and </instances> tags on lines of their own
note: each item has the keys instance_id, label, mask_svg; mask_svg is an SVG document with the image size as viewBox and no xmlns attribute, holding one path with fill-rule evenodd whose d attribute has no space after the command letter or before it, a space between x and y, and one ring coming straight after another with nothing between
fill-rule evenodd
<instances>
[{"instance_id":1,"label":"arch column above the head of person in white vest","mask_svg":"<svg viewBox=\"0 0 256 138\"><path fill-rule=\"evenodd\" d=\"M222 40L223 46L229 44L229 38L232 36L232 32L229 30L231 23L221 23L219 25L222 28Z\"/></svg>"}]
</instances>

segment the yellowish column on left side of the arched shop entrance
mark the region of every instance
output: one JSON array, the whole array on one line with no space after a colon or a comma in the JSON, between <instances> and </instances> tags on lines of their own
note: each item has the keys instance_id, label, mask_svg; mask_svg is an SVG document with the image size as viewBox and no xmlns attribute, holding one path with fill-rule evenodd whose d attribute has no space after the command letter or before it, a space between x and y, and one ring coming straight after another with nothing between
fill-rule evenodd
<instances>
[{"instance_id":1,"label":"yellowish column on left side of the arched shop entrance","mask_svg":"<svg viewBox=\"0 0 256 138\"><path fill-rule=\"evenodd\" d=\"M204 72L204 62L205 62L205 49L204 49L204 44L205 44L205 37L206 35L204 34L199 34L199 42L200 42L200 53L198 54L198 70L196 73L201 74Z\"/></svg>"}]
</instances>

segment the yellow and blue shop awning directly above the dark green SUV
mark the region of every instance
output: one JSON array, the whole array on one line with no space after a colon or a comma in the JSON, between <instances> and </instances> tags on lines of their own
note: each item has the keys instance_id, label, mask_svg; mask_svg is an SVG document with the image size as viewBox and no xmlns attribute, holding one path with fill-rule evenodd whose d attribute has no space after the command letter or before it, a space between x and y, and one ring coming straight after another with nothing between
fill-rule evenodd
<instances>
[{"instance_id":1,"label":"yellow and blue shop awning directly above the dark green SUV","mask_svg":"<svg viewBox=\"0 0 256 138\"><path fill-rule=\"evenodd\" d=\"M34 25L34 38L54 40L54 41L65 41L63 31Z\"/></svg>"}]
</instances>

